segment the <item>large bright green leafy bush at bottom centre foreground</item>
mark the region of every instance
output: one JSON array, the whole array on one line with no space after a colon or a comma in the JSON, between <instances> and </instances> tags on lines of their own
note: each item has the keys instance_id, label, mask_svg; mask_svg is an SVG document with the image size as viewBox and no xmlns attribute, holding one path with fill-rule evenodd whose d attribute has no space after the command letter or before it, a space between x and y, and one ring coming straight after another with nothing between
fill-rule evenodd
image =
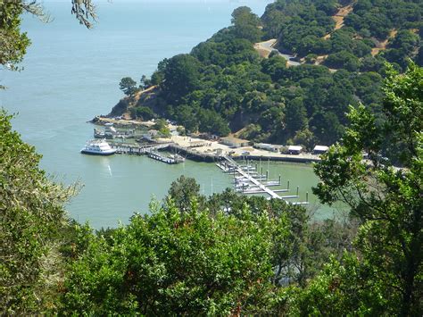
<instances>
[{"instance_id":1,"label":"large bright green leafy bush at bottom centre foreground","mask_svg":"<svg viewBox=\"0 0 423 317\"><path fill-rule=\"evenodd\" d=\"M136 215L109 242L91 233L71 265L63 313L265 313L270 284L271 221L198 209L180 213L169 201Z\"/></svg>"}]
</instances>

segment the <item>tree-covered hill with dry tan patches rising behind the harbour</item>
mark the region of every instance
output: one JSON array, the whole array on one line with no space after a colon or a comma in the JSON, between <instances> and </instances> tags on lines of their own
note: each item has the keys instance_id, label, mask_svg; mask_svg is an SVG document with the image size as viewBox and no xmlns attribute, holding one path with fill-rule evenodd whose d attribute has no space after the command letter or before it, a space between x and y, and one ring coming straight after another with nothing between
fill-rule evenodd
<instances>
[{"instance_id":1,"label":"tree-covered hill with dry tan patches rising behind the harbour","mask_svg":"<svg viewBox=\"0 0 423 317\"><path fill-rule=\"evenodd\" d=\"M385 63L403 71L423 64L423 2L419 0L278 0L261 18L248 7L231 25L159 63L151 79L121 82L128 95L112 111L160 115L188 131L279 144L331 145L347 123L349 104L377 113ZM253 44L278 39L279 52L261 57Z\"/></svg>"}]
</instances>

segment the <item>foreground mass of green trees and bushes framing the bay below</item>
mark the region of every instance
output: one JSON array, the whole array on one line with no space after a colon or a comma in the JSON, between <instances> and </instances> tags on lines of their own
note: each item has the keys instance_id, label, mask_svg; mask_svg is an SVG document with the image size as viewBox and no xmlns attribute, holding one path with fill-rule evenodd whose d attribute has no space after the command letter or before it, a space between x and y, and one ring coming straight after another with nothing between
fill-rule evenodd
<instances>
[{"instance_id":1,"label":"foreground mass of green trees and bushes framing the bay below","mask_svg":"<svg viewBox=\"0 0 423 317\"><path fill-rule=\"evenodd\" d=\"M95 232L69 221L74 188L46 177L0 112L1 313L421 316L423 68L386 67L385 124L351 107L315 165L320 201L351 208L325 221L282 199L202 196L181 176L150 213ZM386 141L404 169L380 155Z\"/></svg>"}]
</instances>

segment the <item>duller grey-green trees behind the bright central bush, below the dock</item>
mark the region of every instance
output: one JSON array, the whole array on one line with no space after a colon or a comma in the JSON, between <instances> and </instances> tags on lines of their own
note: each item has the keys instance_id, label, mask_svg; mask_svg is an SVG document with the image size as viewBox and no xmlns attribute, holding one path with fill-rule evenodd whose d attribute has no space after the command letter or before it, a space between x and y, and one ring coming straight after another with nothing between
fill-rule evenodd
<instances>
[{"instance_id":1,"label":"duller grey-green trees behind the bright central bush, below the dock","mask_svg":"<svg viewBox=\"0 0 423 317\"><path fill-rule=\"evenodd\" d=\"M229 215L243 218L246 206L254 218L260 219L263 213L270 215L276 226L272 233L272 280L278 287L306 285L327 262L329 254L341 258L344 250L352 247L354 222L312 221L310 212L283 200L239 196L227 189L211 196L207 206L211 215L223 209Z\"/></svg>"}]
</instances>

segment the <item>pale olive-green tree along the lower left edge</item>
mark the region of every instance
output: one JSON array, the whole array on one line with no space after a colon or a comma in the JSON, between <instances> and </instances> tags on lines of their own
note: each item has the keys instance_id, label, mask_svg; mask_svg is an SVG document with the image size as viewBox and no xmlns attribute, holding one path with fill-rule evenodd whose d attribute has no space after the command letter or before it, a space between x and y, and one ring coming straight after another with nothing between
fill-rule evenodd
<instances>
[{"instance_id":1,"label":"pale olive-green tree along the lower left edge","mask_svg":"<svg viewBox=\"0 0 423 317\"><path fill-rule=\"evenodd\" d=\"M63 204L75 188L54 183L41 155L12 131L0 111L0 313L29 315L56 307L61 282Z\"/></svg>"}]
</instances>

